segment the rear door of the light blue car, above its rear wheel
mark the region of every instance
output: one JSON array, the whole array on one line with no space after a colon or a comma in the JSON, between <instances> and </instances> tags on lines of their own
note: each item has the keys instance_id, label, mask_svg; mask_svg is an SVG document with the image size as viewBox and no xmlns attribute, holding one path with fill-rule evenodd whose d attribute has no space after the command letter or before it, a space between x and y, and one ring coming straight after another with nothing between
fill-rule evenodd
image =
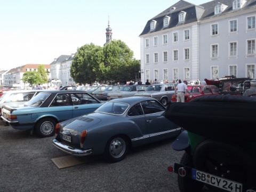
<instances>
[{"instance_id":1,"label":"rear door of the light blue car, above its rear wheel","mask_svg":"<svg viewBox=\"0 0 256 192\"><path fill-rule=\"evenodd\" d=\"M49 113L57 116L59 121L65 121L72 117L72 102L68 93L59 93L53 99Z\"/></svg>"}]
</instances>

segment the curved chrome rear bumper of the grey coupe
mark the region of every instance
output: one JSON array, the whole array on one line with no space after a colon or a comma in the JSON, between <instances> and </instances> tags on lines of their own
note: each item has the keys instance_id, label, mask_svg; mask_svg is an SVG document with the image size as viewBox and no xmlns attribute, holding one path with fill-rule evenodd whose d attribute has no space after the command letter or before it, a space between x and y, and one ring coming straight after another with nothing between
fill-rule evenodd
<instances>
[{"instance_id":1,"label":"curved chrome rear bumper of the grey coupe","mask_svg":"<svg viewBox=\"0 0 256 192\"><path fill-rule=\"evenodd\" d=\"M92 149L86 149L86 150L76 149L67 145L63 145L57 139L53 139L52 143L55 147L57 147L58 149L70 155L87 156L92 154Z\"/></svg>"}]
</instances>

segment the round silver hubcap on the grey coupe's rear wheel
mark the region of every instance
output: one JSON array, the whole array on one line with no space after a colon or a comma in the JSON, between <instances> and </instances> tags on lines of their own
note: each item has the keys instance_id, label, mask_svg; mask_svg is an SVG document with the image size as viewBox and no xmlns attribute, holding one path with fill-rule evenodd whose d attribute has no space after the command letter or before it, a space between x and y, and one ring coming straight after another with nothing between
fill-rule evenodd
<instances>
[{"instance_id":1,"label":"round silver hubcap on the grey coupe's rear wheel","mask_svg":"<svg viewBox=\"0 0 256 192\"><path fill-rule=\"evenodd\" d=\"M109 152L114 158L122 157L125 153L126 145L122 138L115 138L110 142Z\"/></svg>"}]
</instances>

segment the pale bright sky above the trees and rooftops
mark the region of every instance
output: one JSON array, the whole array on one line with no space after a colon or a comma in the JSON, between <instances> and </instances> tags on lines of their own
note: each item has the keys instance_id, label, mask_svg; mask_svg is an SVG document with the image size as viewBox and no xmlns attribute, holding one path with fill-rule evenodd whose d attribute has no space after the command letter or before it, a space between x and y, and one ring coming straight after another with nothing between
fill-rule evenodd
<instances>
[{"instance_id":1,"label":"pale bright sky above the trees and rooftops","mask_svg":"<svg viewBox=\"0 0 256 192\"><path fill-rule=\"evenodd\" d=\"M140 38L148 20L175 0L0 0L0 69L50 64L78 47L106 43L108 17L113 39L140 59ZM188 1L196 5L207 0Z\"/></svg>"}]
</instances>

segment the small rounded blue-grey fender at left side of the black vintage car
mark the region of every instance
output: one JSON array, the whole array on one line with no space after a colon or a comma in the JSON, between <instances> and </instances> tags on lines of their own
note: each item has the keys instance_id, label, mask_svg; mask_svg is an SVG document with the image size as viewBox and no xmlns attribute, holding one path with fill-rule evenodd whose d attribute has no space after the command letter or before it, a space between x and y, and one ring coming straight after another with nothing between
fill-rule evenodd
<instances>
[{"instance_id":1,"label":"small rounded blue-grey fender at left side of the black vintage car","mask_svg":"<svg viewBox=\"0 0 256 192\"><path fill-rule=\"evenodd\" d=\"M172 148L177 151L187 150L189 148L188 132L182 131L177 139L172 143Z\"/></svg>"}]
</instances>

